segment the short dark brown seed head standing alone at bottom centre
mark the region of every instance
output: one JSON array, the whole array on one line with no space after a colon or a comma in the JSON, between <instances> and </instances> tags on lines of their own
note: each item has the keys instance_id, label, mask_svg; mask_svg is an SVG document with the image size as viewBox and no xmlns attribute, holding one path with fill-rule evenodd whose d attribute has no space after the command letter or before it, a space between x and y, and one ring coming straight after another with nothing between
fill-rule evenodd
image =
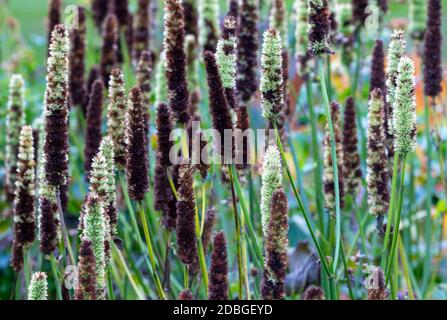
<instances>
[{"instance_id":1,"label":"short dark brown seed head standing alone at bottom centre","mask_svg":"<svg viewBox=\"0 0 447 320\"><path fill-rule=\"evenodd\" d=\"M209 300L228 300L228 258L227 241L223 231L214 236L214 248L211 255Z\"/></svg>"}]
</instances>

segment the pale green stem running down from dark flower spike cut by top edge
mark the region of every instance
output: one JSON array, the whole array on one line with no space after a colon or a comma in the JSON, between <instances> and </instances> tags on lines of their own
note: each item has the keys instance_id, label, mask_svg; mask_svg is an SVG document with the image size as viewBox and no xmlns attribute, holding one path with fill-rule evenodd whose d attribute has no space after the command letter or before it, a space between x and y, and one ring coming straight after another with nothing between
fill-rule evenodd
<instances>
[{"instance_id":1,"label":"pale green stem running down from dark flower spike cut by top edge","mask_svg":"<svg viewBox=\"0 0 447 320\"><path fill-rule=\"evenodd\" d=\"M320 71L320 85L323 94L323 100L326 107L326 117L329 126L329 136L331 143L331 158L332 158L332 170L334 172L334 192L335 192L335 254L334 254L334 264L333 273L337 270L337 262L340 254L340 238L341 238L341 213L340 213L340 184L338 177L338 161L337 161L337 151L335 145L335 130L334 124L332 122L331 106L329 97L327 94L325 74L323 68L323 61L318 63Z\"/></svg>"}]
</instances>

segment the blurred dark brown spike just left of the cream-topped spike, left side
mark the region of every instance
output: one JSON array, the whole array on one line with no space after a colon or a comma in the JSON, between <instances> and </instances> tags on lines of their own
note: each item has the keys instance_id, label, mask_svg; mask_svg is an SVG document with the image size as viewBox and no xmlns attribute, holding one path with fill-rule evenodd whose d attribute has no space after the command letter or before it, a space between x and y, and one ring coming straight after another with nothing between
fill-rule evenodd
<instances>
[{"instance_id":1,"label":"blurred dark brown spike just left of the cream-topped spike, left side","mask_svg":"<svg viewBox=\"0 0 447 320\"><path fill-rule=\"evenodd\" d=\"M90 93L87 107L87 131L85 134L84 170L85 179L90 179L93 158L96 156L101 144L102 105L104 102L104 84L96 80Z\"/></svg>"}]
</instances>

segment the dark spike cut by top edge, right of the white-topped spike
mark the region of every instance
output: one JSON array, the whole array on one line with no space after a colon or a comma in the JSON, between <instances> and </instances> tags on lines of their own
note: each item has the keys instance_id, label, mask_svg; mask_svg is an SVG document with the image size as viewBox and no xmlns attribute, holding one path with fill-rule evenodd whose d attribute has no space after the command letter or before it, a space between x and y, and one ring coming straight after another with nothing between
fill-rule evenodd
<instances>
[{"instance_id":1,"label":"dark spike cut by top edge, right of the white-topped spike","mask_svg":"<svg viewBox=\"0 0 447 320\"><path fill-rule=\"evenodd\" d=\"M258 22L258 2L241 0L237 31L236 89L238 101L245 105L258 90Z\"/></svg>"}]
</instances>

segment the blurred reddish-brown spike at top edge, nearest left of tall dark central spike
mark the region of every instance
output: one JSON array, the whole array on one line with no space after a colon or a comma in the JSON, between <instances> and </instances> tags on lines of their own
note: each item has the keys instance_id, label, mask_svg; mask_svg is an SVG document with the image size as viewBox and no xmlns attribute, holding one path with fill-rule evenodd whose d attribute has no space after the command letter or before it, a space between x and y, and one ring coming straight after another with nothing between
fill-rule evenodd
<instances>
[{"instance_id":1,"label":"blurred reddish-brown spike at top edge, nearest left of tall dark central spike","mask_svg":"<svg viewBox=\"0 0 447 320\"><path fill-rule=\"evenodd\" d=\"M135 28L133 32L133 58L137 63L141 53L149 50L150 41L150 0L138 0L137 14L134 18Z\"/></svg>"}]
</instances>

